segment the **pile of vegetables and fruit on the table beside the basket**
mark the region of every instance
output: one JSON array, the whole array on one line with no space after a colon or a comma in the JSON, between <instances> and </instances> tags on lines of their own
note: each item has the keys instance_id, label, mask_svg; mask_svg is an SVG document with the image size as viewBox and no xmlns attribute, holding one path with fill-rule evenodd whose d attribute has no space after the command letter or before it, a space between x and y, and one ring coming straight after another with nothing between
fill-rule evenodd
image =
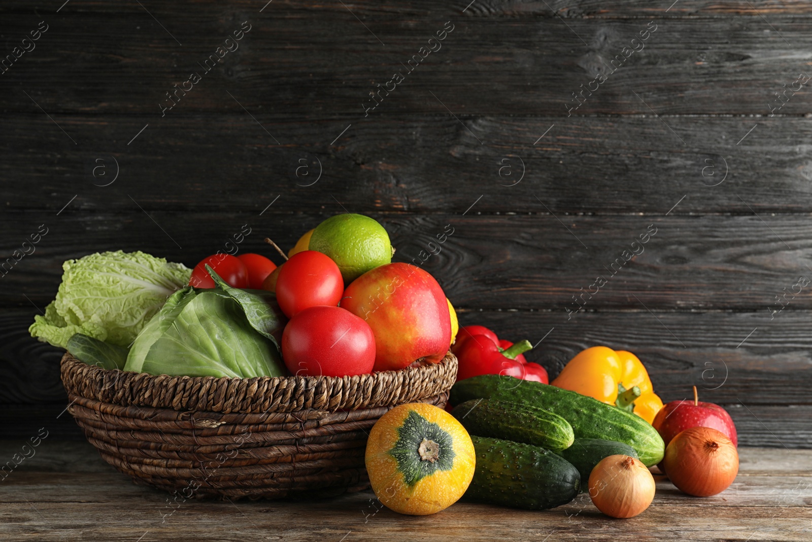
<instances>
[{"instance_id":1,"label":"pile of vegetables and fruit on the table beside the basket","mask_svg":"<svg viewBox=\"0 0 812 542\"><path fill-rule=\"evenodd\" d=\"M663 405L640 360L604 346L585 349L546 384L511 344L500 353L492 332L469 327L465 340L465 329L454 349L482 344L459 358L460 375L473 376L451 388L451 413L400 405L369 434L369 480L389 508L434 514L465 496L548 509L589 492L603 514L632 518L654 500L654 468L693 496L723 492L736 478L736 427L721 407L698 401L695 387L693 401Z\"/></svg>"}]
</instances>

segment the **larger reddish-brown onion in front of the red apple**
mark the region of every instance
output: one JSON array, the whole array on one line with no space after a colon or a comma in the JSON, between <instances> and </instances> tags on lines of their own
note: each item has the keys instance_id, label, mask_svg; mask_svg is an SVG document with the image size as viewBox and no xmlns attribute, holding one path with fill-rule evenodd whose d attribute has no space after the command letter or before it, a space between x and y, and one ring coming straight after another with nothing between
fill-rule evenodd
<instances>
[{"instance_id":1,"label":"larger reddish-brown onion in front of the red apple","mask_svg":"<svg viewBox=\"0 0 812 542\"><path fill-rule=\"evenodd\" d=\"M690 427L668 443L663 464L680 491L711 496L723 492L736 479L739 454L722 431Z\"/></svg>"}]
</instances>

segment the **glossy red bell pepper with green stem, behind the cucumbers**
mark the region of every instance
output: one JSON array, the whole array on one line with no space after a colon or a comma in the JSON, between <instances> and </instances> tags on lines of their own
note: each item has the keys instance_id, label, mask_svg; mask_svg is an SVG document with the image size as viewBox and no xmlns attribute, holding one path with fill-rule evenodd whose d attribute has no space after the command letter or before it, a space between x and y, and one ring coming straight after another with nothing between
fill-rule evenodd
<instances>
[{"instance_id":1,"label":"glossy red bell pepper with green stem, behind the cucumbers","mask_svg":"<svg viewBox=\"0 0 812 542\"><path fill-rule=\"evenodd\" d=\"M463 327L451 347L459 361L457 380L477 375L508 375L548 384L544 367L528 362L522 355L532 348L527 340L515 345L509 340L499 340L487 327Z\"/></svg>"}]
</instances>

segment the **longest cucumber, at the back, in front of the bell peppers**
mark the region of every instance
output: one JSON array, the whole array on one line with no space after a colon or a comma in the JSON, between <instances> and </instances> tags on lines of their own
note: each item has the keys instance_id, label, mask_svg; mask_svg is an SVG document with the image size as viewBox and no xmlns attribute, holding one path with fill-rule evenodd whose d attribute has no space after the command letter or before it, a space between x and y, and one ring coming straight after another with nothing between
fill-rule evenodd
<instances>
[{"instance_id":1,"label":"longest cucumber, at the back, in front of the bell peppers","mask_svg":"<svg viewBox=\"0 0 812 542\"><path fill-rule=\"evenodd\" d=\"M550 410L569 422L575 438L623 442L637 451L646 466L659 463L665 453L665 444L657 430L637 414L550 384L512 376L480 375L460 380L451 387L452 405L479 398L525 403Z\"/></svg>"}]
</instances>

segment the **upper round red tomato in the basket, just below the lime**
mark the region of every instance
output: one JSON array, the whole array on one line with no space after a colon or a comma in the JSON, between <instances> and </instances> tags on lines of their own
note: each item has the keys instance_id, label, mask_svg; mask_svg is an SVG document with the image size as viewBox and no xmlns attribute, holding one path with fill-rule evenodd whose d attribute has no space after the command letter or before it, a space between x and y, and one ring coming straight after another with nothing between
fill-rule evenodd
<instances>
[{"instance_id":1,"label":"upper round red tomato in the basket, just below the lime","mask_svg":"<svg viewBox=\"0 0 812 542\"><path fill-rule=\"evenodd\" d=\"M337 306L343 293L339 267L321 252L303 250L279 268L276 301L287 318L312 306Z\"/></svg>"}]
</instances>

